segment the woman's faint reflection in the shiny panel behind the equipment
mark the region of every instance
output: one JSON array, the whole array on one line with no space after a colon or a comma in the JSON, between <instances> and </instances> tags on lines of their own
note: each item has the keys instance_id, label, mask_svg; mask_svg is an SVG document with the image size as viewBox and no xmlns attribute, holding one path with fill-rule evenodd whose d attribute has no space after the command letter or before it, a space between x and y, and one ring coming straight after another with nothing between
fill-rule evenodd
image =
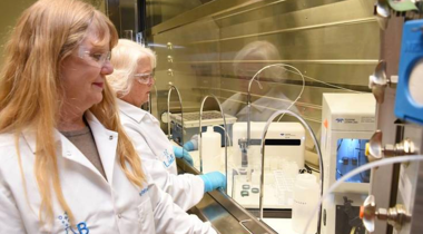
<instances>
[{"instance_id":1,"label":"woman's faint reflection in the shiny panel behind the equipment","mask_svg":"<svg viewBox=\"0 0 423 234\"><path fill-rule=\"evenodd\" d=\"M238 121L246 121L246 92L249 80L262 68L279 60L278 49L268 41L254 41L239 50L233 64L237 92L223 103L225 114L235 116ZM272 67L256 77L263 89L259 89L257 84L252 84L252 94L258 95L252 103L252 121L266 121L275 110L287 109L291 106L292 100L283 92L283 84L289 75L285 68ZM297 111L295 106L291 107L291 110Z\"/></svg>"}]
</instances>

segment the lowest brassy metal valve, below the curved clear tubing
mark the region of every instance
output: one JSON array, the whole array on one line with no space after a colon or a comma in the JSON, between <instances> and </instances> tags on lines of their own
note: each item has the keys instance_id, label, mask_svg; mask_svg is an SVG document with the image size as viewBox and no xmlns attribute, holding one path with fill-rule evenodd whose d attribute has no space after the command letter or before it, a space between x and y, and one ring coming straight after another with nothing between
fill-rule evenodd
<instances>
[{"instance_id":1,"label":"lowest brassy metal valve, below the curved clear tubing","mask_svg":"<svg viewBox=\"0 0 423 234\"><path fill-rule=\"evenodd\" d=\"M363 220L364 227L368 232L374 232L375 218L386 221L390 225L400 231L401 227L410 222L411 215L405 211L402 204L397 204L391 208L376 208L375 198L370 195L363 206L360 208L360 217Z\"/></svg>"}]
</instances>

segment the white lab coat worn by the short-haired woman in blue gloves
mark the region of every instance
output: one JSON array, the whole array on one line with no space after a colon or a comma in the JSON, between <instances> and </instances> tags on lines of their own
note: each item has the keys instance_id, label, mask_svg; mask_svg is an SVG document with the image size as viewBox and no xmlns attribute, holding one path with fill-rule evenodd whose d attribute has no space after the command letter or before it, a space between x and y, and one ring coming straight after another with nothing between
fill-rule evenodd
<instances>
[{"instance_id":1,"label":"white lab coat worn by the short-haired woman in blue gloves","mask_svg":"<svg viewBox=\"0 0 423 234\"><path fill-rule=\"evenodd\" d=\"M120 121L155 183L184 211L204 196L204 182L190 174L177 175L173 146L149 113L118 100Z\"/></svg>"}]
</instances>

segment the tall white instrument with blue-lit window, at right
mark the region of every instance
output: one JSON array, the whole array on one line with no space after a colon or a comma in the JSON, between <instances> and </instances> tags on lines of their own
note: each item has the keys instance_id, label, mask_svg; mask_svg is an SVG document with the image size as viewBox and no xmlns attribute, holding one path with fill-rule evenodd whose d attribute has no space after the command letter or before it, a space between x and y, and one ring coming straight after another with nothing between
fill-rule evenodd
<instances>
[{"instance_id":1,"label":"tall white instrument with blue-lit window, at right","mask_svg":"<svg viewBox=\"0 0 423 234\"><path fill-rule=\"evenodd\" d=\"M321 147L325 167L324 191L348 172L366 164L365 144L375 130L372 94L323 94ZM363 233L360 205L368 194L370 172L341 184L323 202L323 234ZM356 225L356 226L354 226Z\"/></svg>"}]
</instances>

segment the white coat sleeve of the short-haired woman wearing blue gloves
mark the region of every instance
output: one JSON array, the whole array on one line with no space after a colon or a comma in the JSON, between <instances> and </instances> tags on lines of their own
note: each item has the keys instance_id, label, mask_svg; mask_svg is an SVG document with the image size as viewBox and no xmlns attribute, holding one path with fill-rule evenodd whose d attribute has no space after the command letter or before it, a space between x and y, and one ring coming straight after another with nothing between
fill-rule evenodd
<instances>
[{"instance_id":1,"label":"white coat sleeve of the short-haired woman wearing blue gloves","mask_svg":"<svg viewBox=\"0 0 423 234\"><path fill-rule=\"evenodd\" d=\"M142 135L134 128L126 126L126 133L132 140L134 146L141 157L142 166L147 168L154 182L184 211L195 206L204 196L204 182L199 176L191 174L174 175L169 173L157 159L147 145ZM170 144L170 143L169 143Z\"/></svg>"}]
</instances>

